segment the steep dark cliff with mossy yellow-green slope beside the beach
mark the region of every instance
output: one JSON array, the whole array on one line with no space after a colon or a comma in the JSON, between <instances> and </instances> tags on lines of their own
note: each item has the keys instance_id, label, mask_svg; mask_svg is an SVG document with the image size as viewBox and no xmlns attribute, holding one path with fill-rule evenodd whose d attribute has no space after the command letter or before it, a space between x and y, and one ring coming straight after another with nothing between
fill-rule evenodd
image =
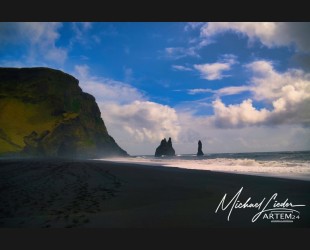
<instances>
[{"instance_id":1,"label":"steep dark cliff with mossy yellow-green slope beside the beach","mask_svg":"<svg viewBox=\"0 0 310 250\"><path fill-rule=\"evenodd\" d=\"M108 134L95 98L49 68L0 68L0 155L127 155Z\"/></svg>"}]
</instances>

